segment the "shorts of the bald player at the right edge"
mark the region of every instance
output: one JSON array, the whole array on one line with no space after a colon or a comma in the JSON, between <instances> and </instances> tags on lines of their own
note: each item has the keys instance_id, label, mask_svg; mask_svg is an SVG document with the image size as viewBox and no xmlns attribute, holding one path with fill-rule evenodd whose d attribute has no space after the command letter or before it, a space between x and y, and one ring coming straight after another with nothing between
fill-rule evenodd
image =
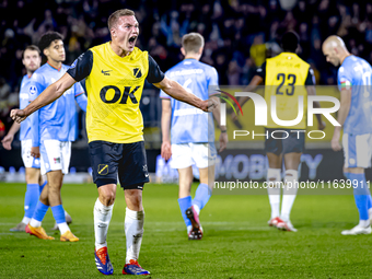
<instances>
[{"instance_id":1,"label":"shorts of the bald player at the right edge","mask_svg":"<svg viewBox=\"0 0 372 279\"><path fill-rule=\"evenodd\" d=\"M345 167L368 168L371 166L372 133L344 133L342 147Z\"/></svg>"}]
</instances>

